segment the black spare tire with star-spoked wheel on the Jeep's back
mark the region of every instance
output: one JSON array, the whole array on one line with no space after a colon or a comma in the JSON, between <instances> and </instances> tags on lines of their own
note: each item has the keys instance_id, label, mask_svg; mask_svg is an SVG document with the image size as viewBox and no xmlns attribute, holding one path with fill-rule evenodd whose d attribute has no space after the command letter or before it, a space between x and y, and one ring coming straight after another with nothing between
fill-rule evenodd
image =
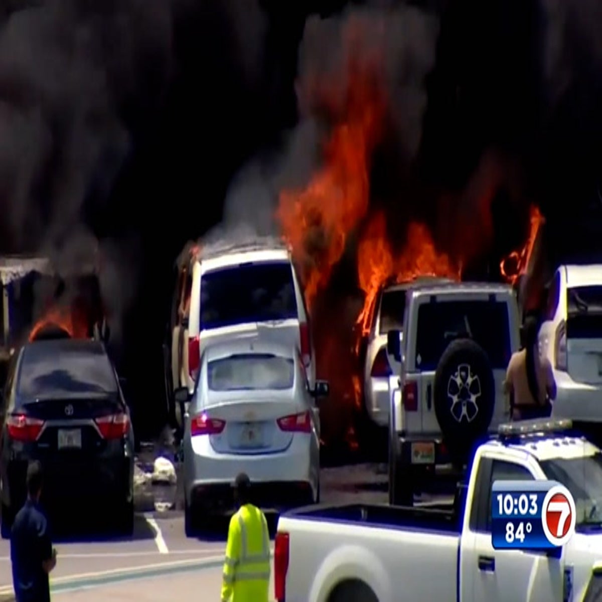
<instances>
[{"instance_id":1,"label":"black spare tire with star-spoked wheel on the Jeep's back","mask_svg":"<svg viewBox=\"0 0 602 602\"><path fill-rule=\"evenodd\" d=\"M452 341L439 359L433 386L444 441L452 455L465 456L493 417L495 380L488 355L472 339Z\"/></svg>"}]
</instances>

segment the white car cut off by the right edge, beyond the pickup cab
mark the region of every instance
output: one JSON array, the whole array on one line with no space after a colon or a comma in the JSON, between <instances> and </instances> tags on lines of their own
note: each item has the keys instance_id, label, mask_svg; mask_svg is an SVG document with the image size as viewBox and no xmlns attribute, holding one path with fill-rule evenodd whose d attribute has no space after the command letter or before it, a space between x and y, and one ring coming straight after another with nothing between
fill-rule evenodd
<instances>
[{"instance_id":1,"label":"white car cut off by the right edge, beyond the pickup cab","mask_svg":"<svg viewBox=\"0 0 602 602\"><path fill-rule=\"evenodd\" d=\"M548 285L539 352L556 380L553 417L602 442L602 264L561 265Z\"/></svg>"}]
</instances>

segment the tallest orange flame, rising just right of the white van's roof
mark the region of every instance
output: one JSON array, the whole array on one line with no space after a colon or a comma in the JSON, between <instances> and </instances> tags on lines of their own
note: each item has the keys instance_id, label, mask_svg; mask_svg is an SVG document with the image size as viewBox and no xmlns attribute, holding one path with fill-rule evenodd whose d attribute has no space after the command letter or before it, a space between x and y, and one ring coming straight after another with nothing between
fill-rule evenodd
<instances>
[{"instance_id":1,"label":"tallest orange flame, rising just right of the white van's roof","mask_svg":"<svg viewBox=\"0 0 602 602\"><path fill-rule=\"evenodd\" d=\"M347 63L343 116L334 126L323 149L323 168L303 190L284 190L279 196L276 217L282 234L303 269L308 307L320 288L326 286L332 268L339 261L351 231L368 211L370 180L368 169L374 147L380 138L385 102L379 65L380 56L357 55L356 42L361 28L350 27L346 42L350 48ZM355 54L354 54L355 53ZM306 82L311 96L324 98L326 105L337 95L332 82L312 78ZM332 108L329 106L329 108Z\"/></svg>"}]
</instances>

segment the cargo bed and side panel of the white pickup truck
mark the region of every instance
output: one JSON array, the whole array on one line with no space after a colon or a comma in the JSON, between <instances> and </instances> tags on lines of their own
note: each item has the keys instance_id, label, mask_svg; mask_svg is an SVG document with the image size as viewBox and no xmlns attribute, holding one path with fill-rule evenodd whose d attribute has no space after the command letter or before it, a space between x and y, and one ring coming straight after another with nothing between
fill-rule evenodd
<instances>
[{"instance_id":1,"label":"cargo bed and side panel of the white pickup truck","mask_svg":"<svg viewBox=\"0 0 602 602\"><path fill-rule=\"evenodd\" d=\"M296 568L288 571L287 602L393 602L400 600L393 583L412 584L408 600L456 602L461 526L461 514L450 506L346 504L288 512L278 523L279 532L291 533L289 566ZM402 562L404 554L414 562ZM373 594L338 592L351 576L371 584Z\"/></svg>"}]
</instances>

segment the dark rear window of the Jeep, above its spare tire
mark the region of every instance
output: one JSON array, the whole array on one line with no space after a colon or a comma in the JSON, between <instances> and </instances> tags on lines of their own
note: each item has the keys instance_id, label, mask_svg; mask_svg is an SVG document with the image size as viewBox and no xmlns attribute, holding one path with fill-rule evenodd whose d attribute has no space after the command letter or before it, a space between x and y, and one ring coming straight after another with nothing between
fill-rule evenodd
<instances>
[{"instance_id":1,"label":"dark rear window of the Jeep, above its spare tire","mask_svg":"<svg viewBox=\"0 0 602 602\"><path fill-rule=\"evenodd\" d=\"M445 301L421 305L416 367L435 370L448 344L455 338L467 336L483 347L492 368L505 370L511 352L507 303Z\"/></svg>"}]
</instances>

